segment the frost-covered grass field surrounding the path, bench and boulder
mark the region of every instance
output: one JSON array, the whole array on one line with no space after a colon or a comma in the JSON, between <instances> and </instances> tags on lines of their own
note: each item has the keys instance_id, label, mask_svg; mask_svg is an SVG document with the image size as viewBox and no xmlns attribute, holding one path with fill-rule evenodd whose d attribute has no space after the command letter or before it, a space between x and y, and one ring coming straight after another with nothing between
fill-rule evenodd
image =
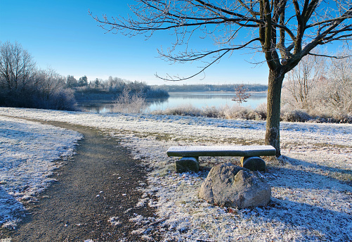
<instances>
[{"instance_id":1,"label":"frost-covered grass field surrounding the path, bench and boulder","mask_svg":"<svg viewBox=\"0 0 352 242\"><path fill-rule=\"evenodd\" d=\"M65 129L13 120L2 115L97 127L103 129L107 136L121 138L123 145L150 167L148 187L141 184L144 195L136 206L154 207L158 217L146 218L136 214L131 219L143 224L143 229L133 233L143 234L145 240L150 239L153 233L162 233L164 241L352 241L352 125L283 122L280 133L283 156L267 160L268 172L263 173L272 186L270 204L264 208L237 210L218 208L198 198L197 191L207 177L207 171L175 174L173 164L176 158L168 158L166 151L169 146L187 144L263 144L265 122L0 108L1 129L10 132L8 135L1 132L1 161L3 154L7 153L28 152L30 158L31 151L39 149L39 146L28 142L33 139L27 139L27 135L44 133L38 132L40 129L51 130L45 132L44 140L52 139L55 134L58 146L61 143L62 149L54 148L56 155L69 155L80 138L79 134ZM23 129L37 130L37 133L25 134ZM33 147L15 151L15 146L8 145L12 141L7 140L15 132L23 134L13 135L17 137L17 141L13 142ZM70 141L67 141L67 136L71 137ZM39 156L36 159L46 159ZM55 160L54 156L52 160ZM25 163L27 158L23 157L25 154L18 159L8 158L13 159L9 164ZM201 165L207 167L224 162L237 163L238 160L200 160ZM36 164L22 172L37 170ZM41 177L46 176L44 167L38 168L43 172ZM6 169L10 168L1 163L1 172ZM47 169L50 173L52 167ZM26 175L24 179L27 179ZM15 191L22 185L11 179L3 180L1 173L4 184L1 184L0 196L3 190L7 192L5 195L15 196L8 187ZM45 183L45 178L34 179L30 187L33 192L35 189L39 191ZM157 199L154 200L155 197ZM20 208L20 204L16 205ZM114 221L119 222L118 215Z\"/></svg>"}]
</instances>

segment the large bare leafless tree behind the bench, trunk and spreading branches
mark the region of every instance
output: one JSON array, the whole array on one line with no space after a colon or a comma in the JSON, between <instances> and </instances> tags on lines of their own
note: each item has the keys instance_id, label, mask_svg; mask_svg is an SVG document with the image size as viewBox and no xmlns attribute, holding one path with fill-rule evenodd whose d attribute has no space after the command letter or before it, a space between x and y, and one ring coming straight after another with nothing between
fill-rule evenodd
<instances>
[{"instance_id":1,"label":"large bare leafless tree behind the bench, trunk and spreading branches","mask_svg":"<svg viewBox=\"0 0 352 242\"><path fill-rule=\"evenodd\" d=\"M319 45L350 41L352 4L343 0L136 0L128 18L93 17L107 32L133 36L171 30L167 60L205 61L200 74L237 49L261 51L269 68L266 144L280 155L280 98L285 73ZM193 50L193 37L212 38L214 50ZM247 39L245 38L247 37ZM184 51L178 52L184 44ZM197 42L195 42L197 44ZM191 77L194 77L192 75ZM190 77L164 79L181 80Z\"/></svg>"}]
</instances>

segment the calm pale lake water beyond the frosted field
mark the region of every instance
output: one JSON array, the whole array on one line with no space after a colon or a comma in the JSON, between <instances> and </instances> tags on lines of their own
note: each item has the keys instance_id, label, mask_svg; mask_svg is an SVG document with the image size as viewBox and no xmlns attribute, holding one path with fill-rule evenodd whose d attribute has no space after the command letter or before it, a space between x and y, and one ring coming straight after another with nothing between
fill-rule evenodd
<instances>
[{"instance_id":1,"label":"calm pale lake water beyond the frosted field","mask_svg":"<svg viewBox=\"0 0 352 242\"><path fill-rule=\"evenodd\" d=\"M197 108L206 106L233 106L239 105L231 99L236 96L235 92L169 92L169 98L148 98L150 110L165 110L177 106L192 105ZM247 102L241 106L256 108L261 103L266 103L266 92L252 92ZM93 113L111 113L112 102L85 102L79 103L79 108Z\"/></svg>"}]
</instances>

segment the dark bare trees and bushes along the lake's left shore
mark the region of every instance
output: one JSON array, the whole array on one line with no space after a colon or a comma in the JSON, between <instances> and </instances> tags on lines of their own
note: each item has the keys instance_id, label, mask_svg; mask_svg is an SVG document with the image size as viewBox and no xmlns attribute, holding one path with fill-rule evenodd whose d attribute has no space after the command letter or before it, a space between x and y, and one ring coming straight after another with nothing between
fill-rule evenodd
<instances>
[{"instance_id":1,"label":"dark bare trees and bushes along the lake's left shore","mask_svg":"<svg viewBox=\"0 0 352 242\"><path fill-rule=\"evenodd\" d=\"M124 90L143 97L168 96L167 91L144 82L118 77L89 81L55 70L37 68L30 53L18 43L0 43L0 106L77 110L77 99L116 98Z\"/></svg>"}]
</instances>

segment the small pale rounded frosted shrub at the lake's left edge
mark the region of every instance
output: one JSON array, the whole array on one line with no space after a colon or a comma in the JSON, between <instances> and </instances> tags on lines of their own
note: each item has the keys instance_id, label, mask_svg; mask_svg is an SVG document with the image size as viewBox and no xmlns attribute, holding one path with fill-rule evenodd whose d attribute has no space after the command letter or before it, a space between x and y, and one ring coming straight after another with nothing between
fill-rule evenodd
<instances>
[{"instance_id":1,"label":"small pale rounded frosted shrub at the lake's left edge","mask_svg":"<svg viewBox=\"0 0 352 242\"><path fill-rule=\"evenodd\" d=\"M114 112L118 113L145 113L148 109L148 104L141 93L131 93L124 89L114 103Z\"/></svg>"}]
</instances>

